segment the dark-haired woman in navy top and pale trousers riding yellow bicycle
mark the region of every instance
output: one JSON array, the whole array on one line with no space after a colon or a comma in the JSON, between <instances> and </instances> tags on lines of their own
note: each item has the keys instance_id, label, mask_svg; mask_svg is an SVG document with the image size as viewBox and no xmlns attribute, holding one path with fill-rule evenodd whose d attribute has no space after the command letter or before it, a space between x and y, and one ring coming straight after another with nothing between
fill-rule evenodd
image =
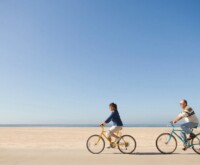
<instances>
[{"instance_id":1,"label":"dark-haired woman in navy top and pale trousers riding yellow bicycle","mask_svg":"<svg viewBox=\"0 0 200 165\"><path fill-rule=\"evenodd\" d=\"M116 138L116 143L119 141L119 137L116 136L114 133L117 131L120 131L123 127L123 123L122 120L120 118L119 112L117 110L117 104L115 103L110 103L109 104L109 109L112 112L111 115L100 125L105 126L106 124L108 124L110 121L113 122L113 126L107 131L107 138L110 142L112 142L111 137L115 137Z\"/></svg>"}]
</instances>

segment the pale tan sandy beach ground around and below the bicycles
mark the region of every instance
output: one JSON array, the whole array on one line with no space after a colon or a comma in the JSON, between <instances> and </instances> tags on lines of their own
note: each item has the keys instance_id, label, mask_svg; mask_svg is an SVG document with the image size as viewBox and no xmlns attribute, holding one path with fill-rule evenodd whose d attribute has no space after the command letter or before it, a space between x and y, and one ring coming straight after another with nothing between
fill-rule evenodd
<instances>
[{"instance_id":1,"label":"pale tan sandy beach ground around and below the bicycles","mask_svg":"<svg viewBox=\"0 0 200 165\"><path fill-rule=\"evenodd\" d=\"M90 135L98 134L100 128L0 127L0 165L199 165L200 155L192 149L182 151L181 143L172 155L157 151L157 136L169 130L124 128L123 134L130 134L137 141L133 154L106 148L94 155L87 151L86 141Z\"/></svg>"}]
</instances>

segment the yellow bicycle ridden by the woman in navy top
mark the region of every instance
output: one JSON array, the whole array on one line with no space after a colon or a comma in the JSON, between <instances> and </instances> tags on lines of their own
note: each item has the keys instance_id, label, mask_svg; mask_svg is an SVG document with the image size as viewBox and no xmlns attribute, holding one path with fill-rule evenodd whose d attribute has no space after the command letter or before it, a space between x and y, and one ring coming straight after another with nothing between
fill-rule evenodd
<instances>
[{"instance_id":1,"label":"yellow bicycle ridden by the woman in navy top","mask_svg":"<svg viewBox=\"0 0 200 165\"><path fill-rule=\"evenodd\" d=\"M102 131L100 135L92 135L88 138L86 146L89 152L92 154L100 154L105 149L105 140L106 139L111 148L118 147L119 151L123 154L131 154L136 149L136 141L131 135L121 135L118 131L115 135L120 139L117 142L111 142L105 135L106 131L104 127L101 126Z\"/></svg>"}]
</instances>

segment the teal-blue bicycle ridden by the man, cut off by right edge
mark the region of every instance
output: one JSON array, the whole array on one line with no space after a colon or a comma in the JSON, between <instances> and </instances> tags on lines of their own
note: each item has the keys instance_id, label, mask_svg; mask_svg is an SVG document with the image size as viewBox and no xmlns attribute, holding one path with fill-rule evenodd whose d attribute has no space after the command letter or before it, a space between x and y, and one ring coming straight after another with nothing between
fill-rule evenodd
<instances>
[{"instance_id":1,"label":"teal-blue bicycle ridden by the man, cut off by right edge","mask_svg":"<svg viewBox=\"0 0 200 165\"><path fill-rule=\"evenodd\" d=\"M172 154L177 149L176 137L181 140L187 148L192 147L194 152L200 154L200 133L192 140L185 142L184 138L178 135L178 132L184 133L181 129L176 129L171 123L172 131L170 133L162 133L156 139L156 148L163 154Z\"/></svg>"}]
</instances>

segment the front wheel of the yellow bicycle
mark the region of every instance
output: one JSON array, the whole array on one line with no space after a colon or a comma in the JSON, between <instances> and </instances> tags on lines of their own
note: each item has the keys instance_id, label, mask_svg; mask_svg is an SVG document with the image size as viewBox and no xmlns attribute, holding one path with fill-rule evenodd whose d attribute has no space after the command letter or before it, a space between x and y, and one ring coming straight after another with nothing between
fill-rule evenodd
<instances>
[{"instance_id":1,"label":"front wheel of the yellow bicycle","mask_svg":"<svg viewBox=\"0 0 200 165\"><path fill-rule=\"evenodd\" d=\"M93 154L100 154L105 148L105 141L99 135L92 135L86 143L87 149Z\"/></svg>"}]
</instances>

